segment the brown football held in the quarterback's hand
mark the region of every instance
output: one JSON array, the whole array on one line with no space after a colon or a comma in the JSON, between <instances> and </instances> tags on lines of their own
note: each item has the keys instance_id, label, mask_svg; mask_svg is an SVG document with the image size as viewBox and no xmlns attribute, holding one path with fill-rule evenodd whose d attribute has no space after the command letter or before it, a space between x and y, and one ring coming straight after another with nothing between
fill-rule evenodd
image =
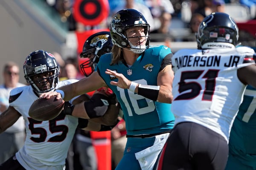
<instances>
[{"instance_id":1,"label":"brown football held in the quarterback's hand","mask_svg":"<svg viewBox=\"0 0 256 170\"><path fill-rule=\"evenodd\" d=\"M29 108L29 116L38 121L51 120L57 117L63 107L63 99L56 99L56 96L51 96L49 99L38 98Z\"/></svg>"}]
</instances>

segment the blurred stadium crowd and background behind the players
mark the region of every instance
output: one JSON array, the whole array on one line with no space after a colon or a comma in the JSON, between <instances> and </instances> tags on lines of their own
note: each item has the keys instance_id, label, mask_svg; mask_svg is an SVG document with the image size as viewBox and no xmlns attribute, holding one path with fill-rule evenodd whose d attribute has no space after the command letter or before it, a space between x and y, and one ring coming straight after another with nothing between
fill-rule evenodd
<instances>
[{"instance_id":1,"label":"blurred stadium crowd and background behind the players","mask_svg":"<svg viewBox=\"0 0 256 170\"><path fill-rule=\"evenodd\" d=\"M242 45L255 46L256 0L0 0L0 68L3 70L0 84L9 87L7 82L15 82L9 88L16 87L18 82L26 84L22 71L24 59L30 51L40 49L56 57L61 79L83 78L79 65L84 61L79 54L84 41L98 30L108 30L113 14L124 8L135 8L145 16L150 24L151 45L167 45L174 53L181 48L197 48L195 32L199 24L204 17L218 11L230 14L238 23ZM84 10L84 15L79 10ZM85 16L94 13L103 19L87 22ZM20 68L16 74L4 69L10 61ZM114 168L126 142L125 122L121 121L111 133ZM90 156L90 133L77 131L67 159L68 170L87 166L79 161L82 151L77 147L79 144L87 145L84 148L88 148L87 156ZM87 160L94 164L97 158L92 156Z\"/></svg>"}]
</instances>

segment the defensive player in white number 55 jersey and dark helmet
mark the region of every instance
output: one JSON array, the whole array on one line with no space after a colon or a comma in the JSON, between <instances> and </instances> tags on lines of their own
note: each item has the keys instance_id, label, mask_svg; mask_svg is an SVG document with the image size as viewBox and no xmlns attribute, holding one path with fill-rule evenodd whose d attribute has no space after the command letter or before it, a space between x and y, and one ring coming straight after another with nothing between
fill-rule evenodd
<instances>
[{"instance_id":1,"label":"defensive player in white number 55 jersey and dark helmet","mask_svg":"<svg viewBox=\"0 0 256 170\"><path fill-rule=\"evenodd\" d=\"M23 116L26 127L25 145L15 156L1 164L0 170L64 170L67 151L77 127L96 131L110 130L111 128L88 119L78 119L66 115L70 114L68 112L73 109L76 110L76 106L71 109L69 102L65 102L63 111L65 114L61 113L55 119L49 121L32 119L29 117L28 111L32 102L38 99L40 94L54 91L55 88L78 80L70 79L58 82L59 66L56 60L52 54L42 50L29 54L23 65L23 70L30 85L11 91L9 108L0 115L0 132L6 130L20 116ZM74 103L77 100L80 98L74 98L70 102ZM95 103L100 103L97 102L98 100L101 101L101 99L93 99ZM108 101L105 99L105 102L108 103ZM93 108L90 109L93 110ZM86 108L84 110L84 115L86 115L88 110Z\"/></svg>"}]
</instances>

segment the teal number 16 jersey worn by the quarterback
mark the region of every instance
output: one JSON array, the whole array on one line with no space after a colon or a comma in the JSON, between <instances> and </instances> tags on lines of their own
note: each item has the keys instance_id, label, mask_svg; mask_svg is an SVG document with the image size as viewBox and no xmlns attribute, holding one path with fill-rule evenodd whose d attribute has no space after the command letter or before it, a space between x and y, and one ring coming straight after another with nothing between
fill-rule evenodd
<instances>
[{"instance_id":1,"label":"teal number 16 jersey worn by the quarterback","mask_svg":"<svg viewBox=\"0 0 256 170\"><path fill-rule=\"evenodd\" d=\"M121 104L128 135L160 133L172 129L175 118L171 104L152 101L128 89L111 85L111 81L118 79L105 74L105 70L108 68L122 73L129 80L143 85L157 85L157 75L163 65L171 63L171 56L170 48L160 45L146 49L131 67L123 62L110 65L111 53L100 57L96 70Z\"/></svg>"}]
</instances>

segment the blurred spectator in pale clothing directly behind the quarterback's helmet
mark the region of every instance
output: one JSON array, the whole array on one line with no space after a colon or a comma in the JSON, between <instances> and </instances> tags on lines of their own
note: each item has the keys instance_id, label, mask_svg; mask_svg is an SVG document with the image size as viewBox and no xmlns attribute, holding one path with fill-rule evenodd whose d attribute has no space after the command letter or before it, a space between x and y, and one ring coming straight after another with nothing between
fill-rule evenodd
<instances>
[{"instance_id":1,"label":"blurred spectator in pale clothing directly behind the quarterback's helmet","mask_svg":"<svg viewBox=\"0 0 256 170\"><path fill-rule=\"evenodd\" d=\"M150 25L150 31L153 31L155 29L155 25L154 25L154 18L151 14L150 9L145 6L142 3L138 3L135 0L125 0L125 4L124 5L119 5L114 9L111 9L110 11L110 17L112 18L114 14L116 14L116 12L122 10L122 9L126 9L126 8L133 8L136 9L137 11L139 11L141 14L143 14L143 16L145 17L145 19L147 20L147 22Z\"/></svg>"}]
</instances>

